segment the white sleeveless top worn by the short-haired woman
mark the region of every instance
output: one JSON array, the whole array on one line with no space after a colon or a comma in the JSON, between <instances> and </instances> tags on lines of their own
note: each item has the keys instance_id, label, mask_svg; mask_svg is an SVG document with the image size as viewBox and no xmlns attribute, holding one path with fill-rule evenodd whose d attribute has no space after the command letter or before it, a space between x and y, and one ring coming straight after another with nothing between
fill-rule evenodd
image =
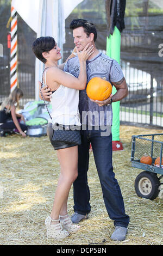
<instances>
[{"instance_id":1,"label":"white sleeveless top worn by the short-haired woman","mask_svg":"<svg viewBox=\"0 0 163 256\"><path fill-rule=\"evenodd\" d=\"M46 72L47 69L45 70L45 85ZM68 88L60 84L60 87L55 90L51 96L52 119L49 119L49 123L52 123L53 121L53 123L64 125L81 125L78 109L79 90Z\"/></svg>"}]
</instances>

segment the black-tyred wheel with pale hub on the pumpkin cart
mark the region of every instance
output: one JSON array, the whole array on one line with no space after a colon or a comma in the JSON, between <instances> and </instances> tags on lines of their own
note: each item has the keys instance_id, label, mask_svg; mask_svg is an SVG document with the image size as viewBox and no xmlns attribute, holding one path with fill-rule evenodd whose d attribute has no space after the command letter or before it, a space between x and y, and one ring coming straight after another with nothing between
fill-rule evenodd
<instances>
[{"instance_id":1,"label":"black-tyred wheel with pale hub on the pumpkin cart","mask_svg":"<svg viewBox=\"0 0 163 256\"><path fill-rule=\"evenodd\" d=\"M150 200L158 197L160 181L155 173L142 172L135 179L137 196Z\"/></svg>"}]
</instances>

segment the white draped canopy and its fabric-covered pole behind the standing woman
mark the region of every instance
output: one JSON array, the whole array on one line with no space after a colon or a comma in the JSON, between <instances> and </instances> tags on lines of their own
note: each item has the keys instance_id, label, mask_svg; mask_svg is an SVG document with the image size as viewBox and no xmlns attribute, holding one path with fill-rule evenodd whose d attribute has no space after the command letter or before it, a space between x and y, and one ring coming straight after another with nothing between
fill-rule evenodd
<instances>
[{"instance_id":1,"label":"white draped canopy and its fabric-covered pole behind the standing woman","mask_svg":"<svg viewBox=\"0 0 163 256\"><path fill-rule=\"evenodd\" d=\"M65 44L65 19L83 0L12 0L17 13L40 36L53 36L62 51ZM39 84L43 71L43 63L36 59L35 65L35 97L39 100Z\"/></svg>"}]
</instances>

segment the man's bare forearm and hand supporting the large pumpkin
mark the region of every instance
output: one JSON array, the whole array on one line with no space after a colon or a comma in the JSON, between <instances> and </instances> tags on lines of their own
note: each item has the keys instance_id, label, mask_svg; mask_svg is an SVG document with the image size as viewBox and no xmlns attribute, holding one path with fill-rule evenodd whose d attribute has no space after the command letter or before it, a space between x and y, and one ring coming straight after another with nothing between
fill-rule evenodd
<instances>
[{"instance_id":1,"label":"man's bare forearm and hand supporting the large pumpkin","mask_svg":"<svg viewBox=\"0 0 163 256\"><path fill-rule=\"evenodd\" d=\"M116 102L116 101L120 101L122 100L124 97L126 97L128 95L128 87L127 87L127 83L125 78L123 77L120 81L118 82L111 82L112 84L114 84L117 92L114 95L110 95L110 97L104 101L94 101L96 102L100 107L103 105L108 105L111 103L111 99L112 102Z\"/></svg>"}]
</instances>

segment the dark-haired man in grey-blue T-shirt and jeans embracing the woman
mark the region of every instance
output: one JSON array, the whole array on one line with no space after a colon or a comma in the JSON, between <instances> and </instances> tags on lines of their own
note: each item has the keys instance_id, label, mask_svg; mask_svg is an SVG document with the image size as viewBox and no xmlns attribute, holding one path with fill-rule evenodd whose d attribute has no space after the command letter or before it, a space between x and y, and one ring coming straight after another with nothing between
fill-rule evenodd
<instances>
[{"instance_id":1,"label":"dark-haired man in grey-blue T-shirt and jeans embracing the woman","mask_svg":"<svg viewBox=\"0 0 163 256\"><path fill-rule=\"evenodd\" d=\"M86 219L87 214L91 211L90 190L87 184L91 143L105 207L111 220L114 220L115 231L112 233L111 239L120 241L126 238L129 216L125 214L123 197L112 168L111 103L126 97L128 88L120 65L97 50L95 46L97 31L93 23L76 19L71 22L70 28L73 31L74 44L78 51L82 51L88 43L94 45L95 48L95 52L86 61L87 82L92 77L101 77L110 81L117 89L116 94L111 94L105 101L91 101L87 97L86 89L80 90L79 112L82 123L82 144L78 147L78 178L73 183L74 214L71 220L73 223L78 223ZM78 56L66 62L64 71L78 77ZM48 100L51 93L44 88L42 94Z\"/></svg>"}]
</instances>

